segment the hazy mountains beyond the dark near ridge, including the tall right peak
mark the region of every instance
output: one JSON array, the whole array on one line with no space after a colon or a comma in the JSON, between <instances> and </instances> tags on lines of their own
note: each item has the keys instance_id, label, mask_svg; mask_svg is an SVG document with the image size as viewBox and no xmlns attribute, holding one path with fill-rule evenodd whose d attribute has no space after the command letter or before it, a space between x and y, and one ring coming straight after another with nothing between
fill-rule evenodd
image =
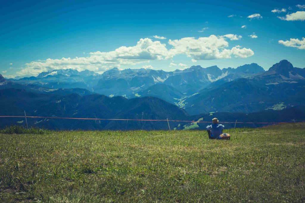
<instances>
[{"instance_id":1,"label":"hazy mountains beyond the dark near ridge, including the tall right peak","mask_svg":"<svg viewBox=\"0 0 305 203\"><path fill-rule=\"evenodd\" d=\"M305 68L295 68L282 60L268 71L256 63L223 69L197 65L172 72L112 68L101 75L65 69L13 81L0 78L0 89L7 88L60 95L99 93L128 99L153 96L189 114L216 111L248 114L303 105Z\"/></svg>"}]
</instances>

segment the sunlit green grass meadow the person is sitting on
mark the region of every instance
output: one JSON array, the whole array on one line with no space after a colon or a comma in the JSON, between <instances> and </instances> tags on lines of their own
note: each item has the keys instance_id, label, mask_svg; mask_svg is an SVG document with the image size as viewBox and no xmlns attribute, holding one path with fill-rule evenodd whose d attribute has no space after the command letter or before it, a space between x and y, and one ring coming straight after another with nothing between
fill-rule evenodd
<instances>
[{"instance_id":1,"label":"sunlit green grass meadow the person is sitting on","mask_svg":"<svg viewBox=\"0 0 305 203\"><path fill-rule=\"evenodd\" d=\"M304 127L0 134L0 202L303 202Z\"/></svg>"}]
</instances>

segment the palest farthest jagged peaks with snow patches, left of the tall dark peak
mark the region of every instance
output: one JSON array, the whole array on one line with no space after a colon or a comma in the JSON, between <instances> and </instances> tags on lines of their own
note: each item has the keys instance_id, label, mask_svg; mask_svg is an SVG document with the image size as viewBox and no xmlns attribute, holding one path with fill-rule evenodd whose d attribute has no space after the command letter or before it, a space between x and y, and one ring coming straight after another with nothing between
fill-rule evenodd
<instances>
[{"instance_id":1,"label":"palest farthest jagged peaks with snow patches, left of the tall dark peak","mask_svg":"<svg viewBox=\"0 0 305 203\"><path fill-rule=\"evenodd\" d=\"M236 77L248 77L264 69L257 64L246 64L238 68L220 69L217 66L202 68L192 66L184 70L166 72L152 69L112 68L99 75L92 71L78 72L74 69L59 69L42 72L37 77L26 77L18 80L10 79L20 84L33 84L47 88L83 88L107 96L125 96L132 98L155 84L164 83L179 89L182 93L192 95L203 87L227 75L237 74Z\"/></svg>"}]
</instances>

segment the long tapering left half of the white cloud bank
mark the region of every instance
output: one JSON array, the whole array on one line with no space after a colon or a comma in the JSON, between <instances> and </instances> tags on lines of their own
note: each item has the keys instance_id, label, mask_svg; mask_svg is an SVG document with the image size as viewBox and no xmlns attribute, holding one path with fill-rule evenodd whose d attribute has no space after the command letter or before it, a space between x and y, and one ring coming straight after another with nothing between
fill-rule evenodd
<instances>
[{"instance_id":1,"label":"long tapering left half of the white cloud bank","mask_svg":"<svg viewBox=\"0 0 305 203\"><path fill-rule=\"evenodd\" d=\"M133 47L119 47L110 52L91 52L89 57L61 58L45 61L32 61L25 64L26 67L17 72L18 76L38 75L54 69L73 68L79 71L88 69L102 73L113 67L121 65L136 65L149 60L162 60L172 58L166 48L166 44L160 41L152 41L149 38L140 39Z\"/></svg>"}]
</instances>

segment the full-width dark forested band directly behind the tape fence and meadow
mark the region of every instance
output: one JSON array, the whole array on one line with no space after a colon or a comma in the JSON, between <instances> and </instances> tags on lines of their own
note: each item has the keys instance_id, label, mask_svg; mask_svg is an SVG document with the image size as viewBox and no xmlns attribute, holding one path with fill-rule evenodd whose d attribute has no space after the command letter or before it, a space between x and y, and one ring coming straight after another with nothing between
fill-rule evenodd
<instances>
[{"instance_id":1,"label":"full-width dark forested band directly behind the tape fence and meadow","mask_svg":"<svg viewBox=\"0 0 305 203\"><path fill-rule=\"evenodd\" d=\"M163 85L163 84L160 84ZM122 120L77 120L71 118L102 118L102 119L144 119L144 120L180 120L170 121L172 130L201 129L213 117L220 121L232 122L283 122L305 120L305 106L290 107L279 111L265 110L244 114L234 112L212 112L190 116L185 110L167 103L156 97L126 99L121 96L107 97L105 95L47 95L27 92L23 89L0 90L0 115L19 116L26 111L27 116L51 118L28 118L29 126L57 130L168 130L166 121L122 121ZM181 122L194 121L194 122ZM9 125L25 124L24 117L1 118L0 128ZM233 128L234 123L225 123L226 128ZM261 127L262 124L239 123L238 127Z\"/></svg>"}]
</instances>

